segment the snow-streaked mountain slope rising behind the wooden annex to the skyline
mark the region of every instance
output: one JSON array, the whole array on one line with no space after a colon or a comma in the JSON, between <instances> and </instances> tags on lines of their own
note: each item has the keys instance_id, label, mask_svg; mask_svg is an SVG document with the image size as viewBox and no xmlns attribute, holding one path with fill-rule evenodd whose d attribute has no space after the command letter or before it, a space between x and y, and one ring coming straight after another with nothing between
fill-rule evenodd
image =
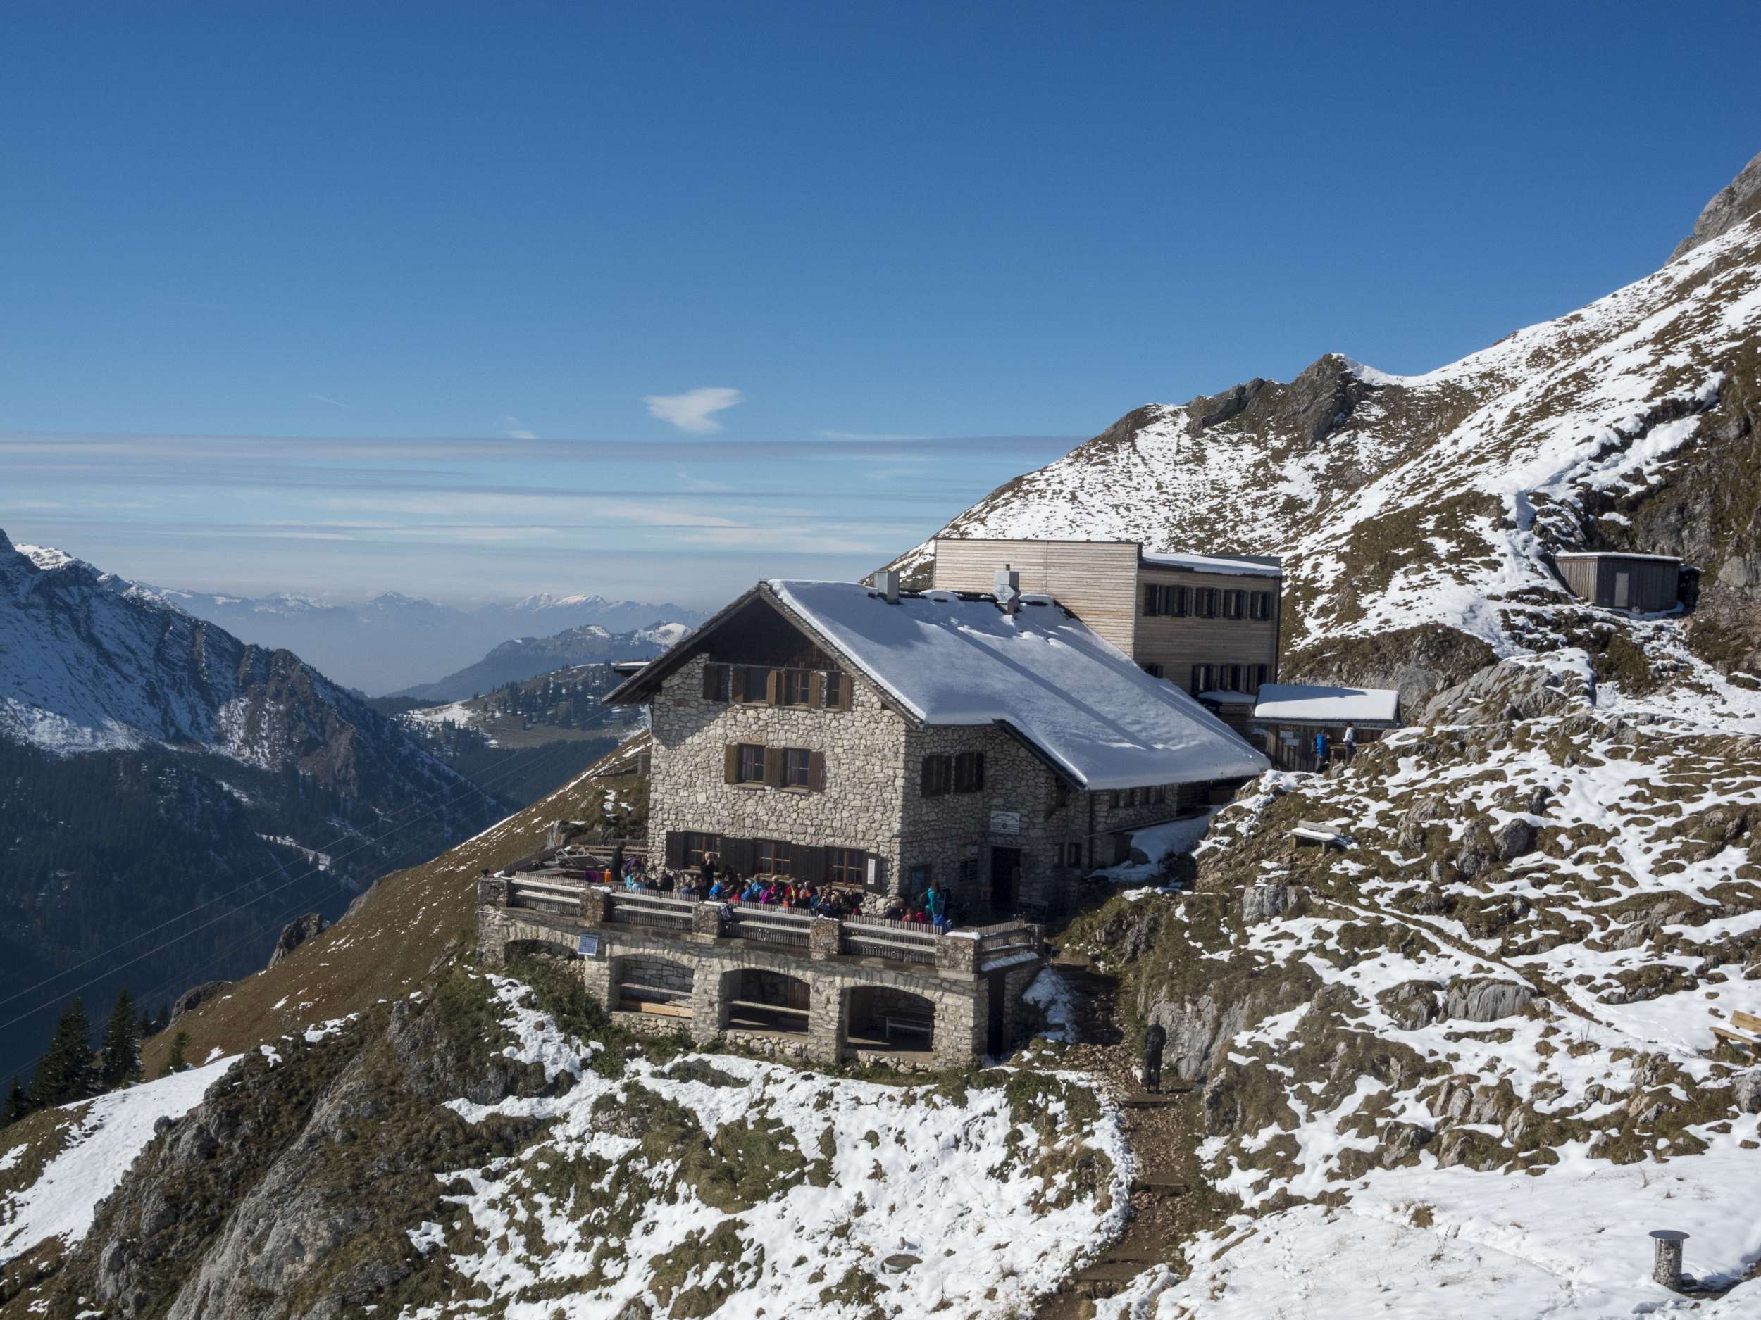
<instances>
[{"instance_id":1,"label":"snow-streaked mountain slope rising behind the wooden annex to the skyline","mask_svg":"<svg viewBox=\"0 0 1761 1320\"><path fill-rule=\"evenodd\" d=\"M1726 632L1713 658L1752 669L1757 382L1750 216L1426 375L1330 354L1289 384L1138 408L942 535L1284 554L1291 672L1407 678L1412 697L1560 642L1544 616L1566 600L1550 551L1684 554L1703 572L1708 632ZM896 563L921 576L928 554ZM1404 672L1426 667L1419 681Z\"/></svg>"}]
</instances>

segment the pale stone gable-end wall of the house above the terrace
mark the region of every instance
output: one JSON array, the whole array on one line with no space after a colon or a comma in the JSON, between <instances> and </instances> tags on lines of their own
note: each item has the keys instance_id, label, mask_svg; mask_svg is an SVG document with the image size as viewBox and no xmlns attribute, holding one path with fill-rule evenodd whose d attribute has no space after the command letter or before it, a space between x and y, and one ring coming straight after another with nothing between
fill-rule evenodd
<instances>
[{"instance_id":1,"label":"pale stone gable-end wall of the house above the terrace","mask_svg":"<svg viewBox=\"0 0 1761 1320\"><path fill-rule=\"evenodd\" d=\"M880 704L863 678L852 709L743 706L703 697L697 656L662 683L653 715L653 780L648 838L664 847L669 831L861 848L898 875L898 803L905 787L905 722ZM763 743L822 752L826 787L766 788L722 781L729 743Z\"/></svg>"}]
</instances>

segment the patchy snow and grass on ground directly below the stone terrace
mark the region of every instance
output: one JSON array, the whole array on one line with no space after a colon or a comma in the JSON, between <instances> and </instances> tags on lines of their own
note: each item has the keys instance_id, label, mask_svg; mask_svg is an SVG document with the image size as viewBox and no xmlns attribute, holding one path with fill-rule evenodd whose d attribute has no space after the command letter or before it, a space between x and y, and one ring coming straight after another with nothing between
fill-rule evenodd
<instances>
[{"instance_id":1,"label":"patchy snow and grass on ground directly below the stone terrace","mask_svg":"<svg viewBox=\"0 0 1761 1320\"><path fill-rule=\"evenodd\" d=\"M574 1081L555 1096L453 1104L470 1121L551 1123L539 1146L440 1177L470 1188L442 1197L475 1228L449 1258L488 1294L468 1313L548 1320L562 1304L609 1316L641 1301L655 1315L676 1306L726 1320L858 1316L873 1304L1000 1320L1122 1227L1129 1151L1116 1112L1083 1079L880 1086L701 1054L664 1068L629 1060L609 1079L525 1005L519 982L491 984L518 1042L509 1056ZM1006 1081L1032 1096L1011 1098ZM657 1139L669 1123L703 1139ZM763 1177L731 1186L720 1158ZM410 1241L431 1253L446 1237L424 1225Z\"/></svg>"}]
</instances>

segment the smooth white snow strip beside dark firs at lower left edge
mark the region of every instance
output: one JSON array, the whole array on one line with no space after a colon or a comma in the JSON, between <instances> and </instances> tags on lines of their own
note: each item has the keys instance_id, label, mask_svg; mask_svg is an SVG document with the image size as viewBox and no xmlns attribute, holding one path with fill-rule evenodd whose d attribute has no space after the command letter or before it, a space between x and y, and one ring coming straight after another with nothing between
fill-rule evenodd
<instances>
[{"instance_id":1,"label":"smooth white snow strip beside dark firs at lower left edge","mask_svg":"<svg viewBox=\"0 0 1761 1320\"><path fill-rule=\"evenodd\" d=\"M74 1116L67 1146L53 1156L28 1188L9 1197L0 1225L0 1260L11 1260L48 1237L72 1244L92 1227L97 1204L107 1197L134 1156L153 1139L158 1118L181 1118L232 1067L224 1058L201 1068L178 1072L125 1091L65 1105ZM0 1133L0 1146L5 1135ZM7 1151L18 1160L23 1148Z\"/></svg>"}]
</instances>

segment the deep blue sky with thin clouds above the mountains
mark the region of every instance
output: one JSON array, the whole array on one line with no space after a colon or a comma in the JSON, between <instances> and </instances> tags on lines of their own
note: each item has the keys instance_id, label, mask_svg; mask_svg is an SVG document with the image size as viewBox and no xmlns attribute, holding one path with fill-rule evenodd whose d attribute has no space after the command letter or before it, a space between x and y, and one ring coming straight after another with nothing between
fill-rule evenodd
<instances>
[{"instance_id":1,"label":"deep blue sky with thin clouds above the mountains","mask_svg":"<svg viewBox=\"0 0 1761 1320\"><path fill-rule=\"evenodd\" d=\"M1754 4L0 14L0 526L173 586L713 604L1152 400L1654 269Z\"/></svg>"}]
</instances>

